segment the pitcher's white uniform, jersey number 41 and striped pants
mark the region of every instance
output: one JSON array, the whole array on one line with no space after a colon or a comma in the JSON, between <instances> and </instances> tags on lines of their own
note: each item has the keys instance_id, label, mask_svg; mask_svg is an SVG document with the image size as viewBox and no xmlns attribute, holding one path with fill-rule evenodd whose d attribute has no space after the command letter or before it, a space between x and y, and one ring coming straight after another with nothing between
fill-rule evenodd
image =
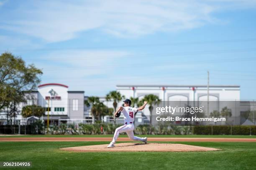
<instances>
[{"instance_id":1,"label":"pitcher's white uniform, jersey number 41 and striped pants","mask_svg":"<svg viewBox=\"0 0 256 170\"><path fill-rule=\"evenodd\" d=\"M123 110L121 111L123 113L124 118L124 125L120 126L119 128L115 129L114 137L112 140L112 143L115 143L117 140L119 133L126 132L128 137L131 140L140 140L143 141L143 138L139 138L137 136L134 136L133 130L134 130L134 114L138 111L138 108L136 107L123 107Z\"/></svg>"}]
</instances>

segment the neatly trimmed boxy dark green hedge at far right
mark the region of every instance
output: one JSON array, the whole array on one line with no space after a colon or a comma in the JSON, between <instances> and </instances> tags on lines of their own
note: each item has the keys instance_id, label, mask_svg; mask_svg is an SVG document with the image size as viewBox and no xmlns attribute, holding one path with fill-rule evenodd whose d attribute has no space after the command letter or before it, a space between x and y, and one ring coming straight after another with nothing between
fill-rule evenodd
<instances>
[{"instance_id":1,"label":"neatly trimmed boxy dark green hedge at far right","mask_svg":"<svg viewBox=\"0 0 256 170\"><path fill-rule=\"evenodd\" d=\"M256 135L256 126L194 126L195 135Z\"/></svg>"}]
</instances>

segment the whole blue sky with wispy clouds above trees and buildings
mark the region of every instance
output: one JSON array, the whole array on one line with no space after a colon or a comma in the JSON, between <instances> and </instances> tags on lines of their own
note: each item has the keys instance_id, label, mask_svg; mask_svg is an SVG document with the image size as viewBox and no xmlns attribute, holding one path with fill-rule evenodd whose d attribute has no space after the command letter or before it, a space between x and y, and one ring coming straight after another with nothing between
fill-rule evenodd
<instances>
[{"instance_id":1,"label":"whole blue sky with wispy clouds above trees and buildings","mask_svg":"<svg viewBox=\"0 0 256 170\"><path fill-rule=\"evenodd\" d=\"M0 0L0 52L85 95L117 84L241 85L256 99L256 0Z\"/></svg>"}]
</instances>

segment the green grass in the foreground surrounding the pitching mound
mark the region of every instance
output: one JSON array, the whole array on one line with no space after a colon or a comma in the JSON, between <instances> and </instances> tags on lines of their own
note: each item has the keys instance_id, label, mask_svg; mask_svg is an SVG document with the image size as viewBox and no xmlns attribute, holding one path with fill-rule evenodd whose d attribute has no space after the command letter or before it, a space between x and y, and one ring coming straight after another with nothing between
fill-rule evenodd
<instances>
[{"instance_id":1,"label":"green grass in the foreground surrounding the pitching mound","mask_svg":"<svg viewBox=\"0 0 256 170\"><path fill-rule=\"evenodd\" d=\"M169 143L205 146L222 150L188 153L74 153L62 151L59 148L100 145L108 144L108 142L0 142L0 161L31 161L32 168L29 169L59 170L252 170L256 168L255 143Z\"/></svg>"}]
</instances>

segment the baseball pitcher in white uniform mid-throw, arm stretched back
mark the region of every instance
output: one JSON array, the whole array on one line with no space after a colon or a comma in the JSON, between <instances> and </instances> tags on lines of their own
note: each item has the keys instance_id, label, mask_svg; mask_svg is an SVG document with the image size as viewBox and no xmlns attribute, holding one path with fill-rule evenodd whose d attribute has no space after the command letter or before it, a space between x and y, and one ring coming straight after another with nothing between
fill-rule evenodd
<instances>
[{"instance_id":1,"label":"baseball pitcher in white uniform mid-throw, arm stretched back","mask_svg":"<svg viewBox=\"0 0 256 170\"><path fill-rule=\"evenodd\" d=\"M131 100L126 99L124 102L124 107L119 107L118 110L115 111L115 117L119 117L121 112L123 113L124 118L124 125L120 126L119 128L115 129L114 137L111 143L108 145L108 148L115 147L115 141L117 140L119 133L126 132L128 137L131 140L140 140L144 143L147 143L148 138L139 138L137 136L134 136L133 130L134 130L134 114L137 111L143 110L147 104L146 101L144 101L144 105L141 107L131 107Z\"/></svg>"}]
</instances>

